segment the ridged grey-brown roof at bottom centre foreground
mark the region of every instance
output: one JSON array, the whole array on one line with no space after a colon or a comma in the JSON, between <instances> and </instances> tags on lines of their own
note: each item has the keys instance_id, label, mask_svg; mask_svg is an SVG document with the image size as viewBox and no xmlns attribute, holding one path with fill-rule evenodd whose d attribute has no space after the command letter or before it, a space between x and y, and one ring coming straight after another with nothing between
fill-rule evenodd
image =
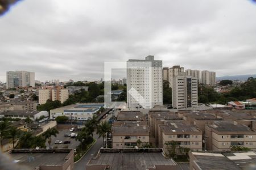
<instances>
[{"instance_id":1,"label":"ridged grey-brown roof at bottom centre foreground","mask_svg":"<svg viewBox=\"0 0 256 170\"><path fill-rule=\"evenodd\" d=\"M176 165L174 160L166 159L162 152L115 152L101 153L97 159L92 159L88 165L110 165L111 170L142 170L154 168L154 165Z\"/></svg>"}]
</instances>

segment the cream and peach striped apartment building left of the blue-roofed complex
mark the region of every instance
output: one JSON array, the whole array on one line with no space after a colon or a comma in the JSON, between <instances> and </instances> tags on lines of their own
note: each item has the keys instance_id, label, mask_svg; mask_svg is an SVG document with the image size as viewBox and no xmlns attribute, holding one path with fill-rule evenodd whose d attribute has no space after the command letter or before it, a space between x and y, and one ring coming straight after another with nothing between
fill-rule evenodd
<instances>
[{"instance_id":1,"label":"cream and peach striped apartment building left of the blue-roofed complex","mask_svg":"<svg viewBox=\"0 0 256 170\"><path fill-rule=\"evenodd\" d=\"M44 87L39 90L39 104L45 104L47 100L59 100L64 103L68 99L68 89L63 86Z\"/></svg>"}]
</instances>

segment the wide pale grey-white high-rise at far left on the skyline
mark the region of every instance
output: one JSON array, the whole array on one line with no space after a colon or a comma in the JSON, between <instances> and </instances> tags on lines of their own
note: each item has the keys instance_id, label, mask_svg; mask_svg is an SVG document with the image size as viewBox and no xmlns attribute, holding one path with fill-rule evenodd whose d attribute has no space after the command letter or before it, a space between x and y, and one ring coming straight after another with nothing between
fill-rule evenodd
<instances>
[{"instance_id":1,"label":"wide pale grey-white high-rise at far left on the skyline","mask_svg":"<svg viewBox=\"0 0 256 170\"><path fill-rule=\"evenodd\" d=\"M6 88L35 87L35 73L28 71L7 71Z\"/></svg>"}]
</instances>

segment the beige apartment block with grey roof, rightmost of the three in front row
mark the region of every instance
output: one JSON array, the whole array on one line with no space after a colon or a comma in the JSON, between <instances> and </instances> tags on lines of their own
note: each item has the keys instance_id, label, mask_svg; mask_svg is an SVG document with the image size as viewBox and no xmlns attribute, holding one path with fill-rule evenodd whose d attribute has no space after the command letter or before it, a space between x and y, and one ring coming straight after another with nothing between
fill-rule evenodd
<instances>
[{"instance_id":1,"label":"beige apartment block with grey roof, rightmost of the three in front row","mask_svg":"<svg viewBox=\"0 0 256 170\"><path fill-rule=\"evenodd\" d=\"M232 146L256 150L256 131L237 122L215 121L205 125L205 143L213 151L229 151Z\"/></svg>"}]
</instances>

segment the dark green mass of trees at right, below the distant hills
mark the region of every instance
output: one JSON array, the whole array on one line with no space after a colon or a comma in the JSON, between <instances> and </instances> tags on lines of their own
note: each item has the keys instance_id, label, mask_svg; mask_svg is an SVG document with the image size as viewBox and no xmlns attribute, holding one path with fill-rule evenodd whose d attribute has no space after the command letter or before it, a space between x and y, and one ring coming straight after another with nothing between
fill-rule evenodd
<instances>
[{"instance_id":1,"label":"dark green mass of trees at right, below the distant hills","mask_svg":"<svg viewBox=\"0 0 256 170\"><path fill-rule=\"evenodd\" d=\"M213 87L199 84L199 103L226 104L229 101L243 101L256 97L256 78L248 78L240 87L234 87L230 92L219 94Z\"/></svg>"}]
</instances>

